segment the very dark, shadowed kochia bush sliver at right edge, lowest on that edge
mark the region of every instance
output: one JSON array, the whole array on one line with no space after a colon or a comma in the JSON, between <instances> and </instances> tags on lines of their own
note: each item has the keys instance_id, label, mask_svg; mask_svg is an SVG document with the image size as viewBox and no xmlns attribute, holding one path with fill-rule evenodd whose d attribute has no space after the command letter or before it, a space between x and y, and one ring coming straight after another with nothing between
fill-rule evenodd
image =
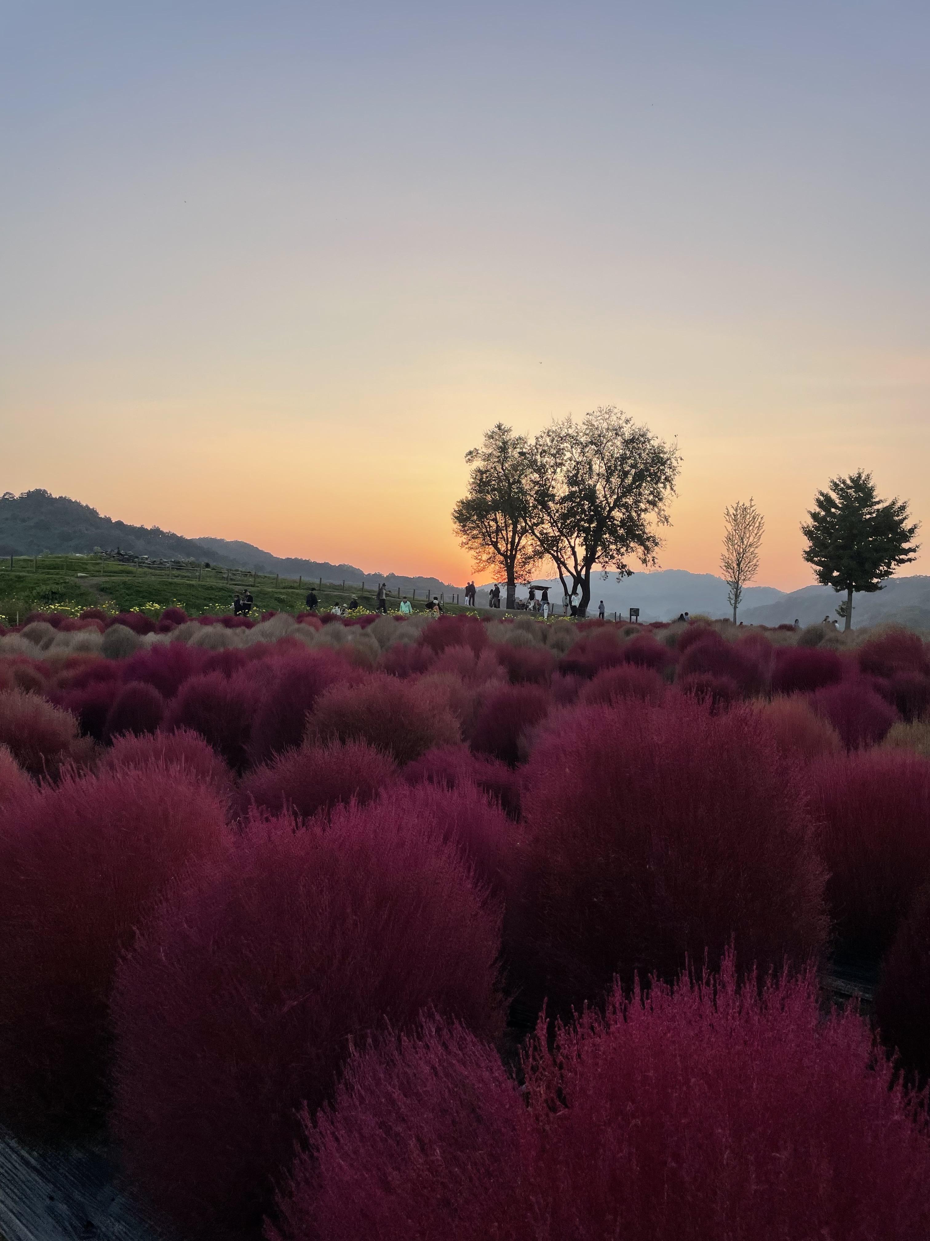
<instances>
[{"instance_id":1,"label":"very dark, shadowed kochia bush sliver at right edge, lowest on that edge","mask_svg":"<svg viewBox=\"0 0 930 1241\"><path fill-rule=\"evenodd\" d=\"M930 1077L930 885L914 897L884 959L875 1019L885 1046L899 1054L906 1078L925 1085Z\"/></svg>"}]
</instances>

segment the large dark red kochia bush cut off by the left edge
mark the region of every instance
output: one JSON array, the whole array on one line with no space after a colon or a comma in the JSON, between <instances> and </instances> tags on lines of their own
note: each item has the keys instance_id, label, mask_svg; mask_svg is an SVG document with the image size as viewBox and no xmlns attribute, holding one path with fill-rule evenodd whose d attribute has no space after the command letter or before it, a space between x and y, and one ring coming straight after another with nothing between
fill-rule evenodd
<instances>
[{"instance_id":1,"label":"large dark red kochia bush cut off by the left edge","mask_svg":"<svg viewBox=\"0 0 930 1241\"><path fill-rule=\"evenodd\" d=\"M32 1132L105 1103L113 973L185 864L218 848L223 810L176 769L76 778L7 803L0 833L0 1107Z\"/></svg>"}]
</instances>

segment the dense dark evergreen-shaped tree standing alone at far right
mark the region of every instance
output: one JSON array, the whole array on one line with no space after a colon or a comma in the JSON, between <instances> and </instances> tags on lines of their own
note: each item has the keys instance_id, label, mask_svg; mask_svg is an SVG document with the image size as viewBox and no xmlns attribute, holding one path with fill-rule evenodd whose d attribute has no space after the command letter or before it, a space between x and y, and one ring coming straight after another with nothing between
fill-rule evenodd
<instances>
[{"instance_id":1,"label":"dense dark evergreen-shaped tree standing alone at far right","mask_svg":"<svg viewBox=\"0 0 930 1241\"><path fill-rule=\"evenodd\" d=\"M909 524L906 500L879 500L872 475L863 470L831 479L827 491L817 491L807 516L810 521L801 524L807 540L804 558L821 585L846 591L837 612L849 629L853 592L880 591L895 568L914 560L919 549L911 539L920 524Z\"/></svg>"}]
</instances>

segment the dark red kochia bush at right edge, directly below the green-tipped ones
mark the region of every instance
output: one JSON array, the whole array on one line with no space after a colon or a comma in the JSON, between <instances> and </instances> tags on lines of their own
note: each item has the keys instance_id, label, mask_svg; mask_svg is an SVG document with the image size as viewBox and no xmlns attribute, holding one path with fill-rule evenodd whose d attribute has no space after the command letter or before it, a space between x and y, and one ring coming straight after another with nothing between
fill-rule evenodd
<instances>
[{"instance_id":1,"label":"dark red kochia bush at right edge, directly below the green-tipped ones","mask_svg":"<svg viewBox=\"0 0 930 1241\"><path fill-rule=\"evenodd\" d=\"M906 750L870 750L822 759L810 782L837 931L858 949L880 952L930 880L930 762Z\"/></svg>"}]
</instances>

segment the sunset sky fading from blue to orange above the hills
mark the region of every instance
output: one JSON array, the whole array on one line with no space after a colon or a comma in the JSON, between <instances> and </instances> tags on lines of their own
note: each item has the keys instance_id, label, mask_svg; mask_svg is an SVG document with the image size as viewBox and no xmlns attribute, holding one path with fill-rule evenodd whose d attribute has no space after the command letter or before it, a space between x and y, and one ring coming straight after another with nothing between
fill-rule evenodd
<instances>
[{"instance_id":1,"label":"sunset sky fading from blue to orange above the hills","mask_svg":"<svg viewBox=\"0 0 930 1241\"><path fill-rule=\"evenodd\" d=\"M831 475L930 519L929 56L925 0L0 0L0 490L461 582L482 431L615 403L662 567L753 495L807 585Z\"/></svg>"}]
</instances>

